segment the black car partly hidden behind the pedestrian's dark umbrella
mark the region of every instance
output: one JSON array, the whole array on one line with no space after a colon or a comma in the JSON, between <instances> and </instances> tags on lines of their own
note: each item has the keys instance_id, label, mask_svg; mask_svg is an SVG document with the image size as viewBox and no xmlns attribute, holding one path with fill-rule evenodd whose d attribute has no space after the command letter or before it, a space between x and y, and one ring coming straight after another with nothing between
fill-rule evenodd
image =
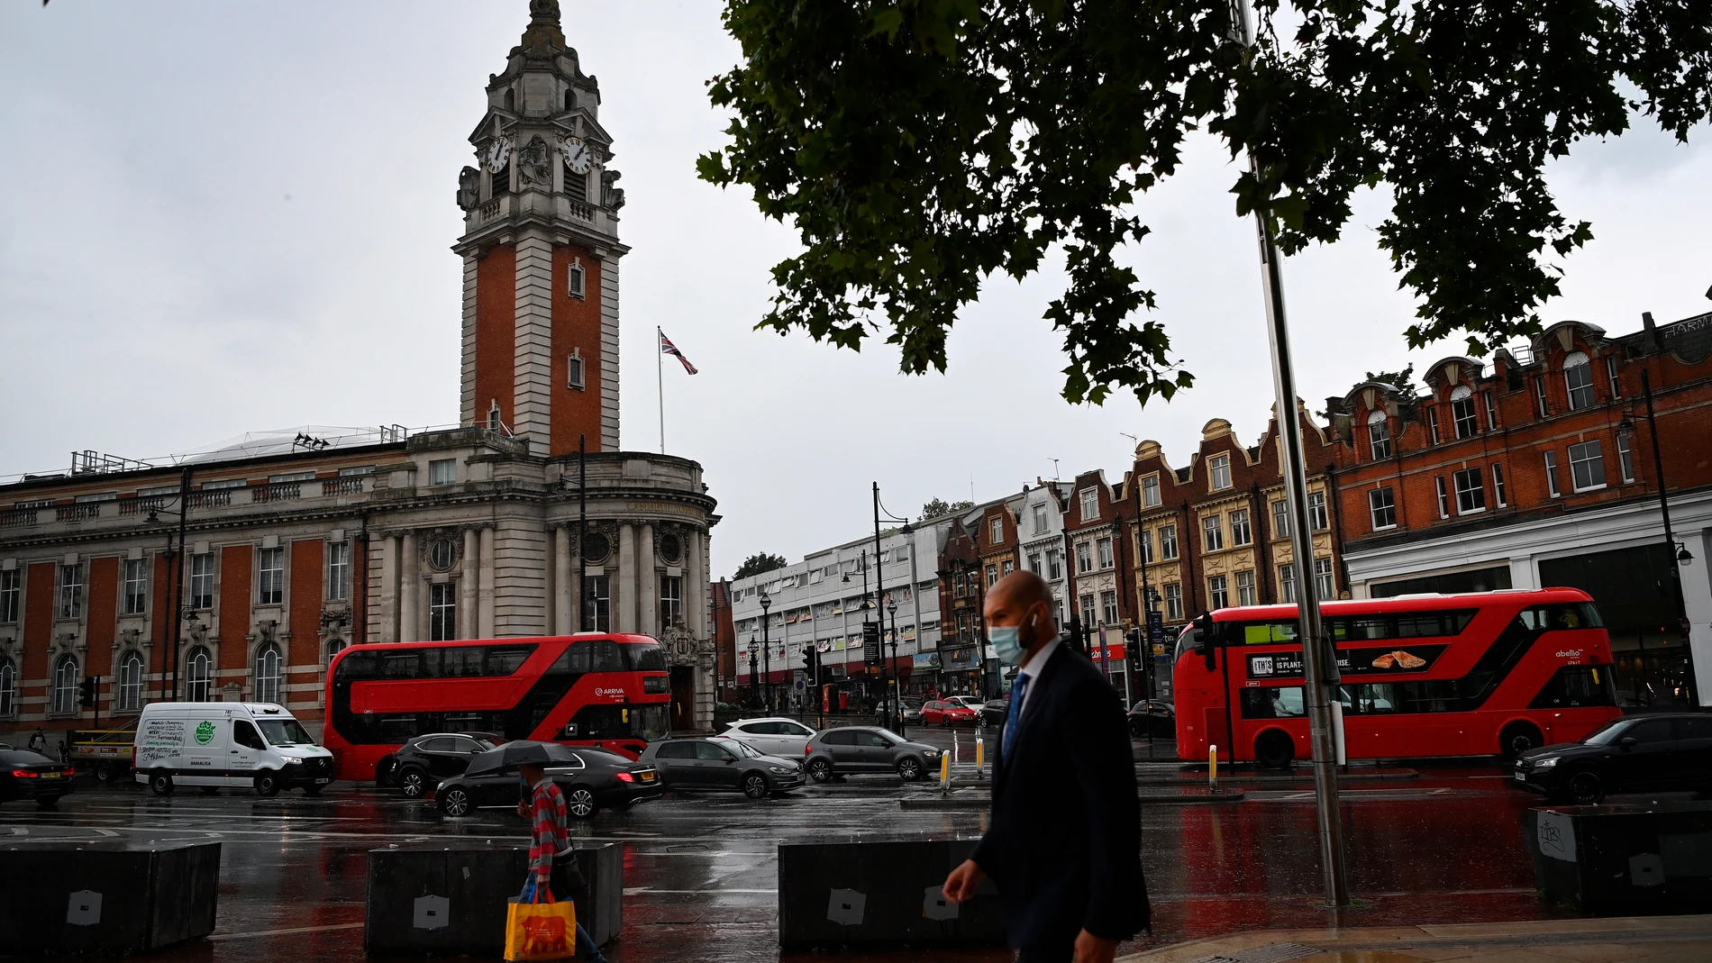
<instances>
[{"instance_id":1,"label":"black car partly hidden behind the pedestrian's dark umbrella","mask_svg":"<svg viewBox=\"0 0 1712 963\"><path fill-rule=\"evenodd\" d=\"M543 768L565 794L565 809L577 819L592 819L601 807L630 806L666 792L659 773L647 763L587 746L544 746L550 763ZM443 816L467 816L490 806L517 806L524 792L522 777L505 763L503 753L488 749L469 763L464 775L442 782L433 794L435 807Z\"/></svg>"}]
</instances>

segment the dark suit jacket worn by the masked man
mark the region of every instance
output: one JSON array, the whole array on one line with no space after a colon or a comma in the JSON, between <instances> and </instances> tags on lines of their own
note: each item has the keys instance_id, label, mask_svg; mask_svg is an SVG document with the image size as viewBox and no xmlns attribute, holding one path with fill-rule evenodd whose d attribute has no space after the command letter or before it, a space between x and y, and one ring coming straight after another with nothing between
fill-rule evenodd
<instances>
[{"instance_id":1,"label":"dark suit jacket worn by the masked man","mask_svg":"<svg viewBox=\"0 0 1712 963\"><path fill-rule=\"evenodd\" d=\"M1005 898L1010 944L1065 946L1084 929L1103 939L1152 931L1118 693L1067 648L1029 679L1022 712L1008 758L1000 727L993 818L971 855Z\"/></svg>"}]
</instances>

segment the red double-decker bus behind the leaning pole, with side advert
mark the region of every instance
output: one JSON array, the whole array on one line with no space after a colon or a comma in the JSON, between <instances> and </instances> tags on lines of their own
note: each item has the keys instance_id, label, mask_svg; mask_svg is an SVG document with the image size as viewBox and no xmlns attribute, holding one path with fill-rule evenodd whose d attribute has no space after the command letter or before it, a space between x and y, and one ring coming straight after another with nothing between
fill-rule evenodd
<instances>
[{"instance_id":1,"label":"red double-decker bus behind the leaning pole, with side advert","mask_svg":"<svg viewBox=\"0 0 1712 963\"><path fill-rule=\"evenodd\" d=\"M1347 758L1515 756L1620 715L1611 638L1577 588L1325 602ZM1296 606L1192 623L1173 671L1178 756L1313 758Z\"/></svg>"}]
</instances>

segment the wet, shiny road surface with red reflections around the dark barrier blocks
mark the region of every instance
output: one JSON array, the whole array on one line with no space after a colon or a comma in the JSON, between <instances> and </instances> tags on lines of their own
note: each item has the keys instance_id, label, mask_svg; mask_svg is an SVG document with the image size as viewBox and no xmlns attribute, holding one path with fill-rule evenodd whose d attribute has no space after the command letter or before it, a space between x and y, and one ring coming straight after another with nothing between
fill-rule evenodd
<instances>
[{"instance_id":1,"label":"wet, shiny road surface with red reflections around the dark barrier blocks","mask_svg":"<svg viewBox=\"0 0 1712 963\"><path fill-rule=\"evenodd\" d=\"M914 732L911 736L916 736ZM928 736L948 744L940 732ZM964 736L967 747L967 736ZM1144 763L1144 775L1169 766ZM962 775L962 773L959 773ZM969 771L972 775L972 771ZM1534 895L1520 816L1537 797L1505 783L1496 761L1423 768L1419 778L1349 785L1344 826L1359 905L1320 903L1313 792L1243 783L1243 802L1147 806L1144 864L1154 936L1123 951L1243 929L1529 920L1573 915ZM921 951L782 954L777 949L776 847L781 842L976 836L979 809L902 809L930 794L892 777L810 785L786 799L676 795L574 821L580 840L625 847L625 929L608 956L644 960L911 960ZM979 792L979 790L964 790ZM1051 814L1043 814L1051 818ZM336 785L260 799L248 790L156 799L142 787L96 787L56 811L7 804L0 845L12 838L219 840L219 917L204 944L158 960L363 958L366 852L440 838L522 840L507 809L442 819L430 802ZM933 951L935 960L1008 960L1003 949Z\"/></svg>"}]
</instances>

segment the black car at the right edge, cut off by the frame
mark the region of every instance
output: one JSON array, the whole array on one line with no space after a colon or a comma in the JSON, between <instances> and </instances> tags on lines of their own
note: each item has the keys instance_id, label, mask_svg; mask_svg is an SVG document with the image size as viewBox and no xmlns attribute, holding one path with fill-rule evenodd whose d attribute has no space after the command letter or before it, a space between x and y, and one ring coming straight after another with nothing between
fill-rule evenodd
<instances>
[{"instance_id":1,"label":"black car at the right edge, cut off by the frame","mask_svg":"<svg viewBox=\"0 0 1712 963\"><path fill-rule=\"evenodd\" d=\"M1577 806L1594 806L1611 792L1712 792L1712 715L1613 718L1580 742L1522 754L1515 782Z\"/></svg>"}]
</instances>

